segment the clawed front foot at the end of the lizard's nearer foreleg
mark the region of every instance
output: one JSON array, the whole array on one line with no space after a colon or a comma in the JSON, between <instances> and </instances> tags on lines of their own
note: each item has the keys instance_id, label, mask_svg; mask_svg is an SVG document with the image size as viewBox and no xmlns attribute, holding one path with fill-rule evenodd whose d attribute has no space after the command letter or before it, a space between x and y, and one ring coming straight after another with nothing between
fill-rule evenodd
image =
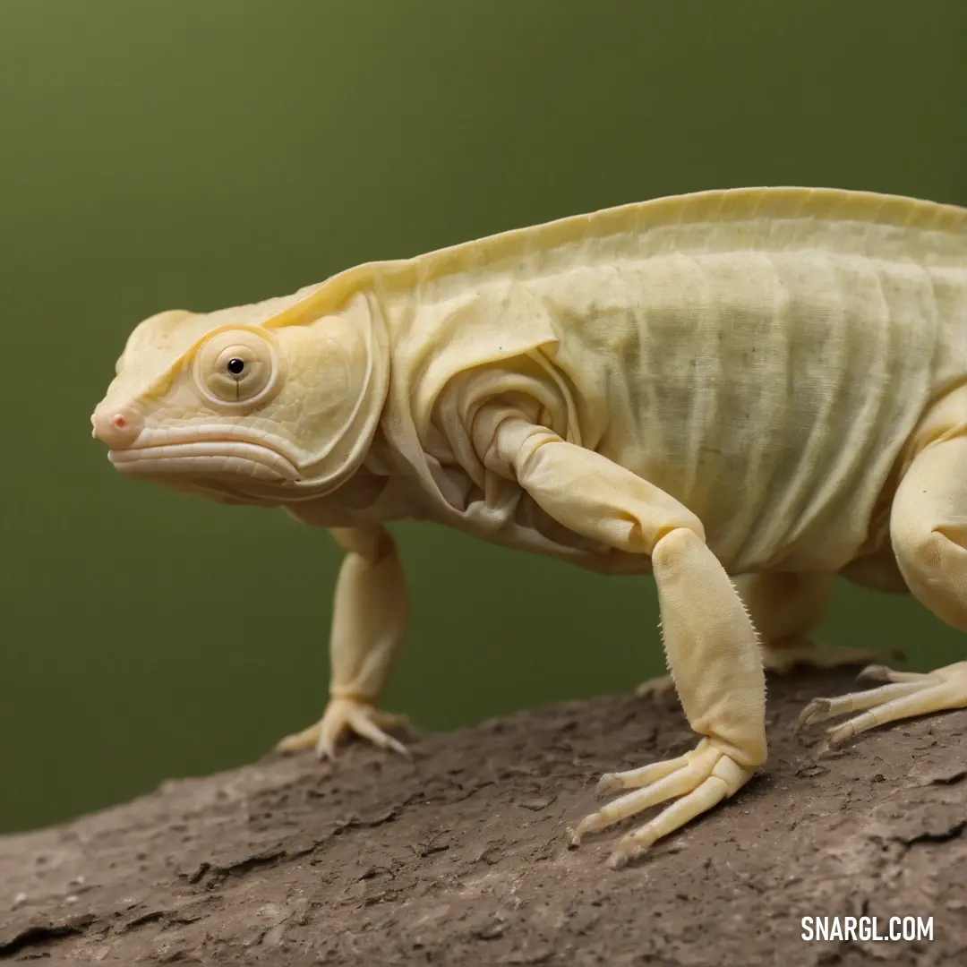
<instances>
[{"instance_id":1,"label":"clawed front foot at the end of the lizard's nearer foreleg","mask_svg":"<svg viewBox=\"0 0 967 967\"><path fill-rule=\"evenodd\" d=\"M607 773L598 783L598 795L631 789L601 806L570 830L571 846L586 833L597 833L649 806L680 796L653 820L623 836L608 860L612 868L622 866L643 853L661 836L673 833L699 813L716 806L740 789L755 770L742 766L715 744L703 739L697 747L678 758L655 762L625 773Z\"/></svg>"}]
</instances>

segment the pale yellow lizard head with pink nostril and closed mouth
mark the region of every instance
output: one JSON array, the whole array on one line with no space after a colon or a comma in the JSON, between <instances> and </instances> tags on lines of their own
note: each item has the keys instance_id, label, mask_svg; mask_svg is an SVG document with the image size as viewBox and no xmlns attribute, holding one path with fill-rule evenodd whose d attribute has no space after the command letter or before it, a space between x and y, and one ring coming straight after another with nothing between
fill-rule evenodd
<instances>
[{"instance_id":1,"label":"pale yellow lizard head with pink nostril and closed mouth","mask_svg":"<svg viewBox=\"0 0 967 967\"><path fill-rule=\"evenodd\" d=\"M222 503L343 484L375 433L389 356L366 294L334 305L328 292L140 323L91 417L114 466Z\"/></svg>"}]
</instances>

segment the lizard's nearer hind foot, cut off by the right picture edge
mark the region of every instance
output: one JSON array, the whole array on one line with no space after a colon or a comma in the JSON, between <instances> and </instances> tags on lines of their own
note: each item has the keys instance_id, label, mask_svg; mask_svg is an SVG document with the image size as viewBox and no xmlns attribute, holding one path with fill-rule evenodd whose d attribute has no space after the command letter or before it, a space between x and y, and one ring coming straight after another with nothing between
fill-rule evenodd
<instances>
[{"instance_id":1,"label":"lizard's nearer hind foot, cut off by the right picture edge","mask_svg":"<svg viewBox=\"0 0 967 967\"><path fill-rule=\"evenodd\" d=\"M926 674L894 671L886 665L874 664L864 668L857 677L867 682L890 684L868 691L854 691L838 698L814 698L800 715L796 731L816 722L859 712L860 715L827 731L827 742L836 746L867 729L899 718L967 706L967 661L957 661Z\"/></svg>"}]
</instances>

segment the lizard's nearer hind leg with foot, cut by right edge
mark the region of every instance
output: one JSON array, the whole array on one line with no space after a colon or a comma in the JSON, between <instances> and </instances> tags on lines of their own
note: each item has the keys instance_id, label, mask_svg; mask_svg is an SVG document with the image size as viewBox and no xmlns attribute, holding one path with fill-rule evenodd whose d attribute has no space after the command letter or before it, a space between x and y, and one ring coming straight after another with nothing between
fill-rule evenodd
<instances>
[{"instance_id":1,"label":"lizard's nearer hind leg with foot, cut by right edge","mask_svg":"<svg viewBox=\"0 0 967 967\"><path fill-rule=\"evenodd\" d=\"M890 532L913 595L953 628L967 631L967 438L948 436L917 454L897 487ZM815 698L800 727L859 713L827 732L836 745L887 722L967 707L967 661L927 674L871 665L860 677L886 684Z\"/></svg>"}]
</instances>

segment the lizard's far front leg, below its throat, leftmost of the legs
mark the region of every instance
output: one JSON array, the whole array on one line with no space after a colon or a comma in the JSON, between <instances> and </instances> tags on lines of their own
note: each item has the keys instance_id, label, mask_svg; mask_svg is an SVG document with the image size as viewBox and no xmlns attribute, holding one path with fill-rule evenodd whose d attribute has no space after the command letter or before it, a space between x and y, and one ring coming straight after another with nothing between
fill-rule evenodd
<instances>
[{"instance_id":1,"label":"lizard's far front leg, below its throat, leftmost of the legs","mask_svg":"<svg viewBox=\"0 0 967 967\"><path fill-rule=\"evenodd\" d=\"M377 708L409 624L409 597L396 542L381 524L334 527L346 551L336 583L330 638L330 700L323 717L278 743L278 751L315 748L335 755L338 740L355 732L375 745L406 752L385 729L406 718Z\"/></svg>"}]
</instances>

